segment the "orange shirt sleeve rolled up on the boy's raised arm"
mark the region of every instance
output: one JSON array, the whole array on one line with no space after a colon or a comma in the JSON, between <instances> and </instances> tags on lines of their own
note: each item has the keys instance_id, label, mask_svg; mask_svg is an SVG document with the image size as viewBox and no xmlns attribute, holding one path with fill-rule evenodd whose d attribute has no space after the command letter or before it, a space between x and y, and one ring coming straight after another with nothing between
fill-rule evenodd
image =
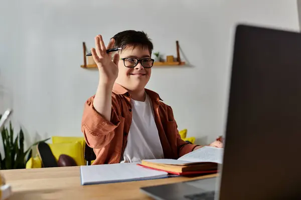
<instances>
[{"instance_id":1,"label":"orange shirt sleeve rolled up on the boy's raised arm","mask_svg":"<svg viewBox=\"0 0 301 200\"><path fill-rule=\"evenodd\" d=\"M108 121L95 110L94 97L95 95L85 102L81 130L88 146L102 148L114 137L114 130L120 123L120 116L117 114L120 106L116 97L112 95L111 119Z\"/></svg>"}]
</instances>

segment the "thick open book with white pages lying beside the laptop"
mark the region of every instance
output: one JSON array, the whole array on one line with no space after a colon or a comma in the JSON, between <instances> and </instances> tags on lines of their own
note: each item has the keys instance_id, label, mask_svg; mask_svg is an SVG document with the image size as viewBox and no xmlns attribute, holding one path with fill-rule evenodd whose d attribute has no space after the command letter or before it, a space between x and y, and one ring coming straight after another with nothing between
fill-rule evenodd
<instances>
[{"instance_id":1,"label":"thick open book with white pages lying beside the laptop","mask_svg":"<svg viewBox=\"0 0 301 200\"><path fill-rule=\"evenodd\" d=\"M223 160L223 150L204 146L179 159L144 159L138 165L179 175L216 172Z\"/></svg>"}]
</instances>

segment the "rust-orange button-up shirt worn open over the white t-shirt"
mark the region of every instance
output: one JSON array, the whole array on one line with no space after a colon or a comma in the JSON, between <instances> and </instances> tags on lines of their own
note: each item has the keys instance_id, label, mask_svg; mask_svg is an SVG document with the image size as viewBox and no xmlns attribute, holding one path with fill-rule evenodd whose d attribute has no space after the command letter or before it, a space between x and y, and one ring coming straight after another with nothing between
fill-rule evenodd
<instances>
[{"instance_id":1,"label":"rust-orange button-up shirt worn open over the white t-shirt","mask_svg":"<svg viewBox=\"0 0 301 200\"><path fill-rule=\"evenodd\" d=\"M172 108L163 103L159 94L145 89L153 102L154 116L165 158L177 159L191 152L197 145L181 139ZM86 143L94 149L93 164L119 163L127 143L132 120L129 92L115 83L112 90L111 119L106 120L93 107L94 96L84 107L81 129Z\"/></svg>"}]
</instances>

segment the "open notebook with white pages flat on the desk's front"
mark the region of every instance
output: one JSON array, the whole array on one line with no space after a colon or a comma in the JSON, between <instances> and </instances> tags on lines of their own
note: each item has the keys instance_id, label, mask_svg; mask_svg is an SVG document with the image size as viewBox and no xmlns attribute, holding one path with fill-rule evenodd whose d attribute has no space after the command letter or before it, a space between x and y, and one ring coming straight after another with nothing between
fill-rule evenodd
<instances>
[{"instance_id":1,"label":"open notebook with white pages flat on the desk's front","mask_svg":"<svg viewBox=\"0 0 301 200\"><path fill-rule=\"evenodd\" d=\"M147 169L132 163L80 166L81 184L101 184L169 177L168 172Z\"/></svg>"}]
</instances>

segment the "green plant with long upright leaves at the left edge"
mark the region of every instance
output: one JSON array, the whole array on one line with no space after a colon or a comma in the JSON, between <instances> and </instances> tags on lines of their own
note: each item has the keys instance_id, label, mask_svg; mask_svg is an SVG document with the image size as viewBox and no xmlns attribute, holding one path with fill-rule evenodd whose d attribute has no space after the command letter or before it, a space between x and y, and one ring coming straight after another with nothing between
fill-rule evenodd
<instances>
[{"instance_id":1,"label":"green plant with long upright leaves at the left edge","mask_svg":"<svg viewBox=\"0 0 301 200\"><path fill-rule=\"evenodd\" d=\"M1 118L1 115L0 115ZM4 158L0 153L0 169L17 169L25 168L26 162L32 156L32 146L37 145L39 142L47 141L50 138L35 142L26 151L24 151L24 133L20 129L14 139L14 129L12 122L10 121L10 127L3 128L1 131L3 147L4 147ZM27 159L25 159L27 155Z\"/></svg>"}]
</instances>

